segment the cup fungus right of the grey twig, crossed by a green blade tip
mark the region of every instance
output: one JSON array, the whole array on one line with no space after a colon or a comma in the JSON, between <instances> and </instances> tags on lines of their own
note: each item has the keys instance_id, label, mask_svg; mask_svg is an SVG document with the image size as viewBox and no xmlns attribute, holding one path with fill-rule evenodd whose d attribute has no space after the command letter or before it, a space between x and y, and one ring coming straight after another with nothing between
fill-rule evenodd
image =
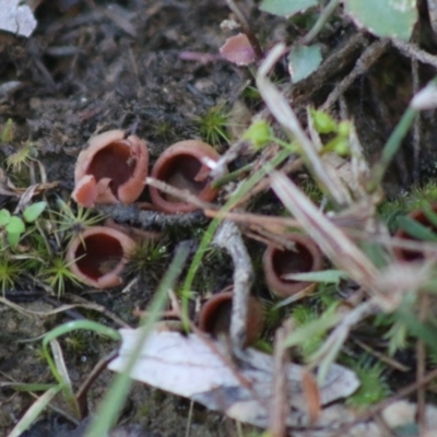
<instances>
[{"instance_id":1,"label":"cup fungus right of the grey twig, crossed by a green blade tip","mask_svg":"<svg viewBox=\"0 0 437 437\"><path fill-rule=\"evenodd\" d=\"M307 273L320 270L323 258L318 246L302 234L284 235L287 241L295 244L295 250L280 249L269 245L262 257L265 283L279 297L288 297L299 292L310 293L314 283L286 279L293 273Z\"/></svg>"}]
</instances>

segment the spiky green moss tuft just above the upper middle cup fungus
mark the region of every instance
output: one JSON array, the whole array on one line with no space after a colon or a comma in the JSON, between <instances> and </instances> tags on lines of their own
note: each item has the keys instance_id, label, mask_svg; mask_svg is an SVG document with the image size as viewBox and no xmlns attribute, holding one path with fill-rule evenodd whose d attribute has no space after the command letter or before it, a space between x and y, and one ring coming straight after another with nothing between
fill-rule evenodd
<instances>
[{"instance_id":1,"label":"spiky green moss tuft just above the upper middle cup fungus","mask_svg":"<svg viewBox=\"0 0 437 437\"><path fill-rule=\"evenodd\" d=\"M218 145L223 141L228 143L226 126L228 113L224 104L210 108L204 115L198 117L199 133L211 145Z\"/></svg>"}]
</instances>

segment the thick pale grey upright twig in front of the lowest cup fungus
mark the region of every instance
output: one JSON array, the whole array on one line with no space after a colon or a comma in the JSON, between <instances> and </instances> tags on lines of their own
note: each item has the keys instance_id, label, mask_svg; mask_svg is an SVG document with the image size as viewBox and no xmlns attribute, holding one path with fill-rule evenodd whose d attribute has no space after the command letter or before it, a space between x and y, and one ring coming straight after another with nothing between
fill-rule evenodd
<instances>
[{"instance_id":1,"label":"thick pale grey upright twig in front of the lowest cup fungus","mask_svg":"<svg viewBox=\"0 0 437 437\"><path fill-rule=\"evenodd\" d=\"M235 223L224 221L217 229L213 244L225 249L234 262L234 297L231 318L231 342L236 356L246 342L248 299L253 283L253 268Z\"/></svg>"}]
</instances>

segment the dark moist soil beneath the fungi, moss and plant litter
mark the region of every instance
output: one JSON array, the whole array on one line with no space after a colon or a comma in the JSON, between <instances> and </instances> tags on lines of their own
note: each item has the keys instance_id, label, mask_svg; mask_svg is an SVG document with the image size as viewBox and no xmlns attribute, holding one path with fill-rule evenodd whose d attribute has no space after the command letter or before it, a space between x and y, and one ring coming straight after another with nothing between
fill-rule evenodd
<instances>
[{"instance_id":1,"label":"dark moist soil beneath the fungi, moss and plant litter","mask_svg":"<svg viewBox=\"0 0 437 437\"><path fill-rule=\"evenodd\" d=\"M305 33L303 23L263 14L251 1L241 2L240 7L265 50L280 40L291 44ZM221 28L221 23L229 19L225 1L42 1L35 16L38 25L29 38L0 34L0 85L16 81L14 86L1 86L0 125L12 119L14 135L13 141L1 143L0 157L4 163L20 144L28 140L34 142L46 180L57 182L47 192L50 199L69 199L75 158L97 132L123 129L145 139L153 164L174 142L202 138L199 120L211 110L225 108L228 115L226 133L232 142L248 125L250 116L263 109L262 102L251 88L256 69L237 67L218 56L220 47L233 34ZM350 23L330 24L319 36L323 56L334 55L357 32ZM291 88L286 66L277 66L275 80L291 101L297 102L296 110L303 121L305 106L321 104L335 83L352 70L373 38L364 35L363 42L342 59L339 68L328 71L323 79L316 78L317 83L310 78ZM421 83L425 83L430 74L422 66ZM357 123L370 161L392 131L411 94L410 61L394 49L388 50L376 67L359 76L345 93L349 115ZM243 111L236 110L241 107ZM428 164L436 155L432 145L436 134L433 126L437 126L434 121L433 114L424 116L424 146L415 161L412 138L405 140L403 152L387 181L389 192L395 194L414 181L423 182L434 176L434 167ZM228 143L217 141L215 146L223 152ZM245 162L233 165L238 168L243 164ZM416 180L414 166L420 168ZM2 169L19 188L40 181L38 172L11 174L5 165ZM147 201L147 194L140 200ZM2 208L13 210L16 205L16 199L5 194L0 194L0 201ZM252 209L269 213L272 205L274 211L275 202L274 197L267 193L252 203ZM189 240L196 250L208 224L200 212L177 217L147 212L140 217L132 211L131 206L105 210L120 223L164 233L168 259L181 240ZM248 244L253 246L251 252L258 257L257 264L262 246ZM125 294L120 294L120 290L90 293L70 285L58 299L31 285L32 281L23 281L16 288L5 292L10 300L38 314L22 314L9 306L0 306L0 371L4 382L0 387L1 436L8 434L34 400L7 382L52 381L42 357L40 340L35 339L54 327L81 318L115 328L119 328L121 321L134 327L138 319L132 311L146 307L168 259L152 273L130 272L127 280L137 274L138 281ZM206 257L196 284L203 292L206 287L212 293L217 292L232 283L232 272L229 258L217 252ZM260 285L259 293L267 293L264 286ZM58 315L40 315L61 304L76 303L78 296L101 305L106 312L75 308ZM90 333L66 335L60 344L75 389L98 359L114 349L114 343ZM91 388L91 412L101 402L111 377L109 371L103 371ZM68 412L64 406L59 404L60 410ZM189 408L185 399L135 382L120 417L121 430L114 436L182 436ZM49 411L24 435L81 436L85 424L78 426L66 414ZM233 421L194 405L191 437L232 435L236 435Z\"/></svg>"}]
</instances>

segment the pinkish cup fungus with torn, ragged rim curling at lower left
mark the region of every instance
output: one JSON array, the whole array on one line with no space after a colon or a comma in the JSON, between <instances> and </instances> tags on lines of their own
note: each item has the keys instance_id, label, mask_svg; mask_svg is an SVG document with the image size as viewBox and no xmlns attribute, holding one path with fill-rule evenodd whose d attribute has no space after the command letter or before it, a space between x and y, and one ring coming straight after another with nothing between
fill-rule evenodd
<instances>
[{"instance_id":1,"label":"pinkish cup fungus with torn, ragged rim curling at lower left","mask_svg":"<svg viewBox=\"0 0 437 437\"><path fill-rule=\"evenodd\" d=\"M135 135L110 130L90 140L78 157L72 198L82 206L95 203L132 203L147 176L149 151Z\"/></svg>"}]
</instances>

